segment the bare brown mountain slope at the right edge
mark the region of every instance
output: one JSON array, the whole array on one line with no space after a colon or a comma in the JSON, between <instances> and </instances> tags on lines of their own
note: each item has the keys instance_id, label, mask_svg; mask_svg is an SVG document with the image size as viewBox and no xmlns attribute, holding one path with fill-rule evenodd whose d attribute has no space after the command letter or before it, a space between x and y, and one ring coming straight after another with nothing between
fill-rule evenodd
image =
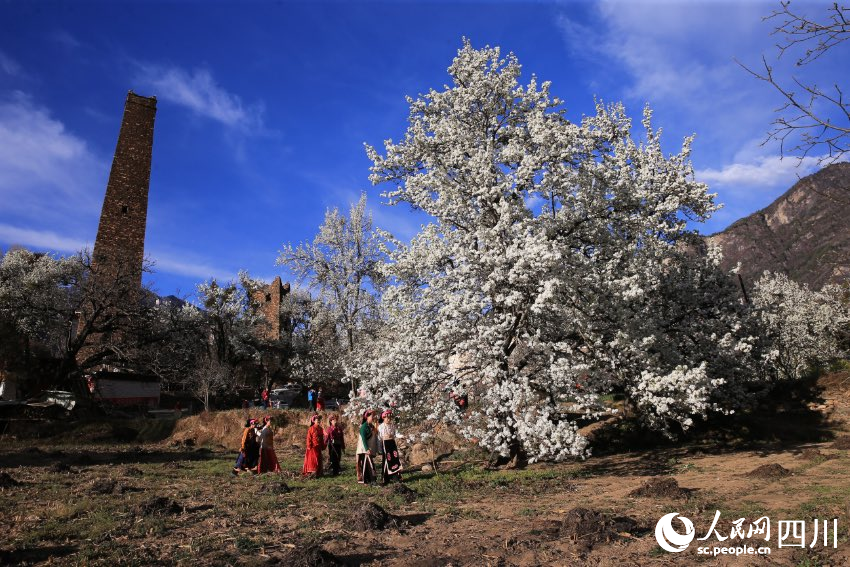
<instances>
[{"instance_id":1,"label":"bare brown mountain slope at the right edge","mask_svg":"<svg viewBox=\"0 0 850 567\"><path fill-rule=\"evenodd\" d=\"M850 275L850 163L794 184L770 206L706 237L723 247L723 267L741 262L747 286L764 270L820 288Z\"/></svg>"}]
</instances>

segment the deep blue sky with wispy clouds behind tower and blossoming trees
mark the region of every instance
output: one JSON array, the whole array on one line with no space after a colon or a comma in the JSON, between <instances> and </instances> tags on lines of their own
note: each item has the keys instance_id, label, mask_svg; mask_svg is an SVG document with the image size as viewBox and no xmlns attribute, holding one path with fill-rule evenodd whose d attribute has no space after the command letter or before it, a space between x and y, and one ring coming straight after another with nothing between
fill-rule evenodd
<instances>
[{"instance_id":1,"label":"deep blue sky with wispy clouds behind tower and blossoming trees","mask_svg":"<svg viewBox=\"0 0 850 567\"><path fill-rule=\"evenodd\" d=\"M795 3L796 5L797 3ZM799 3L812 14L826 4ZM0 4L0 249L67 254L97 232L126 92L158 98L146 253L163 294L240 268L270 279L285 242L369 195L402 238L421 218L381 205L363 143L399 139L405 95L448 82L461 38L513 51L579 119L593 97L654 111L725 208L711 233L817 169L761 146L780 104L735 63L775 57L778 2ZM846 85L841 55L791 69Z\"/></svg>"}]
</instances>

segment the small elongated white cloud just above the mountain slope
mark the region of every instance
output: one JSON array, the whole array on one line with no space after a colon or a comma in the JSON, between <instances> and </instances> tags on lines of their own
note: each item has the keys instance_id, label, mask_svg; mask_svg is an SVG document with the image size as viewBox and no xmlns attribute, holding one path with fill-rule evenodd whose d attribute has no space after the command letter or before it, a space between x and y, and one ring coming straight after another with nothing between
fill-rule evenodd
<instances>
[{"instance_id":1,"label":"small elongated white cloud just above the mountain slope","mask_svg":"<svg viewBox=\"0 0 850 567\"><path fill-rule=\"evenodd\" d=\"M697 181L720 187L790 187L797 177L804 177L820 169L819 158L780 156L756 157L752 161L730 163L721 168L700 169L695 172Z\"/></svg>"}]
</instances>

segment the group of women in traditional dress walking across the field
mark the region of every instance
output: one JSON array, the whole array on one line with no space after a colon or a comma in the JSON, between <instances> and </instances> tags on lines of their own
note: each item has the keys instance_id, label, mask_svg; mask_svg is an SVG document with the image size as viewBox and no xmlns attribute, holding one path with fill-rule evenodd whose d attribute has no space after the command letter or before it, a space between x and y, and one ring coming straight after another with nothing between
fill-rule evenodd
<instances>
[{"instance_id":1,"label":"group of women in traditional dress walking across the field","mask_svg":"<svg viewBox=\"0 0 850 567\"><path fill-rule=\"evenodd\" d=\"M262 420L249 419L242 432L242 444L239 457L233 467L233 474L252 472L280 472L280 463L274 450L274 431L270 416ZM322 416L314 414L307 429L307 450L301 473L306 477L324 475L324 451L328 451L330 474L340 473L342 455L345 452L345 432L339 424L339 417L331 415L328 427L322 426ZM377 423L376 423L377 422ZM402 464L396 438L398 431L393 421L392 411L386 410L380 418L373 410L363 413L357 435L357 482L373 484L377 482L375 459L383 456L381 480L388 484L393 480L401 481Z\"/></svg>"}]
</instances>

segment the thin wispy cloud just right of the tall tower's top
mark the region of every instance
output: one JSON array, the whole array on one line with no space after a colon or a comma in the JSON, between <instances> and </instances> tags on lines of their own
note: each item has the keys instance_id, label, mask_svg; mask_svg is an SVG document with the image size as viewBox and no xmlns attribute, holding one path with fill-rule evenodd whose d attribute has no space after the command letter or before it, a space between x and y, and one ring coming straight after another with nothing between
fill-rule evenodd
<instances>
[{"instance_id":1,"label":"thin wispy cloud just right of the tall tower's top","mask_svg":"<svg viewBox=\"0 0 850 567\"><path fill-rule=\"evenodd\" d=\"M244 104L238 95L219 86L209 71L186 71L159 65L140 67L138 81L153 89L157 98L184 106L231 128L262 128L263 105Z\"/></svg>"}]
</instances>

